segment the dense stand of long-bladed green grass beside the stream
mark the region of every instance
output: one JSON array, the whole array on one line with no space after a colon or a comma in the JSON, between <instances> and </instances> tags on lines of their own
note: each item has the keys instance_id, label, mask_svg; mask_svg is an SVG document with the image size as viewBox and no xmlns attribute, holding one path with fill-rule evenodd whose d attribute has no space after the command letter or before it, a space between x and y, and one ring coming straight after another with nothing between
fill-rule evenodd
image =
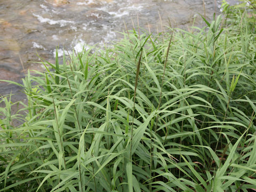
<instances>
[{"instance_id":1,"label":"dense stand of long-bladed green grass beside the stream","mask_svg":"<svg viewBox=\"0 0 256 192\"><path fill-rule=\"evenodd\" d=\"M255 189L255 27L223 9L28 73L27 115L1 101L0 191Z\"/></svg>"}]
</instances>

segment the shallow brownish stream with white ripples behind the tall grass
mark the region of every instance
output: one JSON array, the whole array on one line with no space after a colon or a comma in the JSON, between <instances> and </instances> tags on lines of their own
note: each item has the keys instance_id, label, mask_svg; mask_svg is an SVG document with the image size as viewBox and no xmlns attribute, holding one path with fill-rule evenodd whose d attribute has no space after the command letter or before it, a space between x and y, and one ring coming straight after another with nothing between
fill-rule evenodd
<instances>
[{"instance_id":1,"label":"shallow brownish stream with white ripples behind the tall grass","mask_svg":"<svg viewBox=\"0 0 256 192\"><path fill-rule=\"evenodd\" d=\"M221 1L204 0L207 20L220 13ZM236 0L229 0L235 3ZM162 25L181 28L203 25L202 0L0 0L0 79L20 81L28 69L41 69L38 55L54 62L56 46L81 51L121 37L116 31L133 25L161 31ZM169 18L169 19L168 19ZM139 23L138 23L139 22ZM14 85L0 82L0 96L12 93L23 99Z\"/></svg>"}]
</instances>

